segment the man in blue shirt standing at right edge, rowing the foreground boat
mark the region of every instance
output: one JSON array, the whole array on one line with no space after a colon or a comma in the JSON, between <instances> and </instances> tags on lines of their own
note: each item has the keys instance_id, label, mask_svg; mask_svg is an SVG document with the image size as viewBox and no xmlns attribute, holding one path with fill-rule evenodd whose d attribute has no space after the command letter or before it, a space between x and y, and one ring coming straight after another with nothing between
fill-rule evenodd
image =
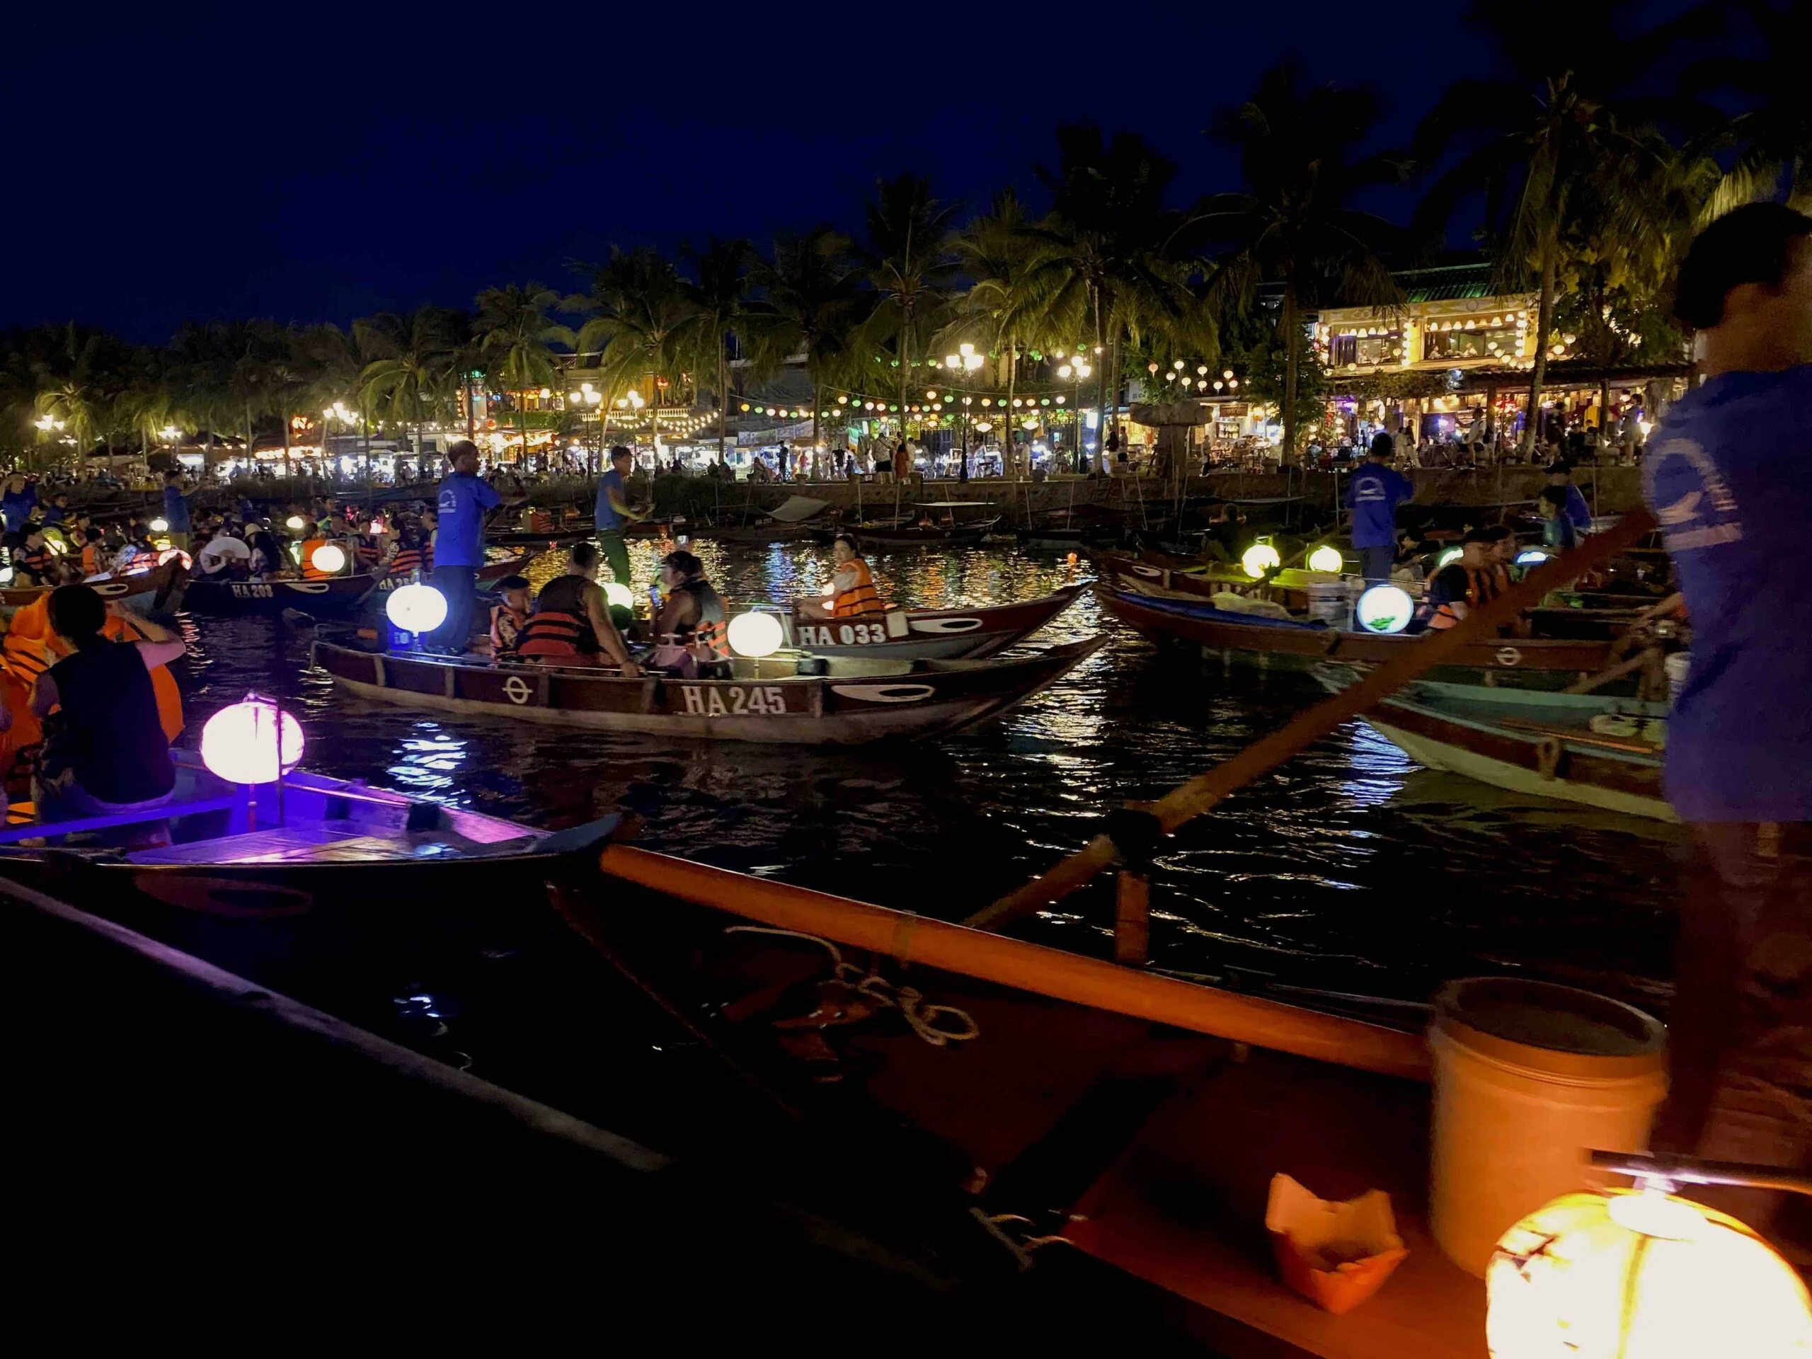
<instances>
[{"instance_id":1,"label":"man in blue shirt standing at right edge, rowing the foreground boat","mask_svg":"<svg viewBox=\"0 0 1812 1359\"><path fill-rule=\"evenodd\" d=\"M1812 1125L1812 217L1707 226L1676 313L1703 382L1649 440L1643 491L1692 623L1665 790L1711 870L1687 893L1654 1143L1801 1169ZM1772 1196L1720 1196L1767 1232ZM1709 1196L1705 1196L1711 1201Z\"/></svg>"}]
</instances>

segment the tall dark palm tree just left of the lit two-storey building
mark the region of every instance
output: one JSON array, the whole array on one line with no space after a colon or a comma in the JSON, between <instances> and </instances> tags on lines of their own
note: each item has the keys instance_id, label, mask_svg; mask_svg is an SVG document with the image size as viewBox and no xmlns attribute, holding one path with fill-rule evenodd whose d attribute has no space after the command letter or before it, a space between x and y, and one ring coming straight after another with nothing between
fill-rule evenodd
<instances>
[{"instance_id":1,"label":"tall dark palm tree just left of the lit two-storey building","mask_svg":"<svg viewBox=\"0 0 1812 1359\"><path fill-rule=\"evenodd\" d=\"M1406 161L1393 152L1359 156L1377 121L1372 91L1303 89L1301 69L1285 62L1259 76L1252 98L1209 129L1239 150L1245 188L1212 194L1196 207L1194 230L1232 245L1212 290L1250 308L1259 283L1283 284L1283 451L1296 451L1303 310L1316 303L1399 299L1379 252L1393 228L1352 207L1375 185L1399 183Z\"/></svg>"}]
</instances>

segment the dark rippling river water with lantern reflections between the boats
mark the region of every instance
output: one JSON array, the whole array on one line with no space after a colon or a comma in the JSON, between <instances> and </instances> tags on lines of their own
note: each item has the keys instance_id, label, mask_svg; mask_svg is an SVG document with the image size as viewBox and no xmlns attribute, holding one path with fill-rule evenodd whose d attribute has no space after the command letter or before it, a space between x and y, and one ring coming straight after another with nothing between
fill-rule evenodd
<instances>
[{"instance_id":1,"label":"dark rippling river water with lantern reflections between the boats","mask_svg":"<svg viewBox=\"0 0 1812 1359\"><path fill-rule=\"evenodd\" d=\"M828 578L828 549L814 545L698 551L743 603L815 594ZM634 560L645 589L652 551L638 544ZM547 560L536 574L551 571ZM875 558L882 593L911 605L1031 598L1085 571L995 547ZM978 730L826 752L663 743L359 703L308 670L304 631L257 618L185 625L196 641L187 743L255 689L295 707L304 765L323 774L547 828L632 810L649 848L948 919L1080 848L1109 806L1169 792L1319 696L1301 678L1225 678L1160 652L1085 596L1038 640L1107 631L1107 647ZM1355 723L1165 844L1152 960L1412 1000L1448 977L1513 969L1660 1007L1678 843L1667 826L1422 770ZM538 882L524 882L524 911L547 913ZM1018 928L1093 953L1111 931L1105 881ZM511 995L567 966L554 955L573 940L560 939L554 930L513 959ZM393 995L355 1009L368 1022L390 1013L393 1033L433 1051L482 1051L487 1075L535 1085L525 1073L558 1062L522 1051L531 1040L509 1002L482 995L475 975L399 975Z\"/></svg>"}]
</instances>

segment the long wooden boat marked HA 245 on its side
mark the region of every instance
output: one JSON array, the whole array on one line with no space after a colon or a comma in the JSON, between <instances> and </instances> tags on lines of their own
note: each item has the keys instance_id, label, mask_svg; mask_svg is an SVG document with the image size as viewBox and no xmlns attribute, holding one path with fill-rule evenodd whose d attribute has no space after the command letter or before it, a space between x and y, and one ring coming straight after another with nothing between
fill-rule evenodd
<instances>
[{"instance_id":1,"label":"long wooden boat marked HA 245 on its side","mask_svg":"<svg viewBox=\"0 0 1812 1359\"><path fill-rule=\"evenodd\" d=\"M312 658L357 698L596 732L859 745L944 736L1006 712L1067 674L1100 638L991 661L830 658L828 674L795 661L737 660L736 680L627 680L614 670L491 665L422 654L382 656L315 641Z\"/></svg>"}]
</instances>

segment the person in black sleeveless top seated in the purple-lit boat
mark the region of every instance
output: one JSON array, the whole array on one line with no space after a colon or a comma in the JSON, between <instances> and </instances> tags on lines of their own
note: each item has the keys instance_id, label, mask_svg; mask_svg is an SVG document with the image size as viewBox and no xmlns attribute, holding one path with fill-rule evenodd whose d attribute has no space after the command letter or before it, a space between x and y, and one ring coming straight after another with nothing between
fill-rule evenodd
<instances>
[{"instance_id":1,"label":"person in black sleeveless top seated in the purple-lit boat","mask_svg":"<svg viewBox=\"0 0 1812 1359\"><path fill-rule=\"evenodd\" d=\"M159 806L176 788L150 674L181 656L183 641L149 620L132 620L145 640L112 641L105 627L120 612L87 585L51 593L51 629L71 652L38 676L31 694L45 728L33 781L40 821ZM169 837L161 823L129 830L138 844Z\"/></svg>"}]
</instances>

